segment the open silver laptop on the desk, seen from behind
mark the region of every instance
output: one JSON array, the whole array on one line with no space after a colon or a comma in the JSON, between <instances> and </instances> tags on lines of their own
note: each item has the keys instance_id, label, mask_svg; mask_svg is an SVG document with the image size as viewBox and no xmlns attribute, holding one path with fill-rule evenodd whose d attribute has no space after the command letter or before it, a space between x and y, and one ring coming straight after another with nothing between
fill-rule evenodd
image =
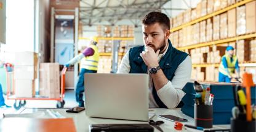
<instances>
[{"instance_id":1,"label":"open silver laptop on the desk, seen from behind","mask_svg":"<svg viewBox=\"0 0 256 132\"><path fill-rule=\"evenodd\" d=\"M86 73L86 115L148 121L148 75Z\"/></svg>"}]
</instances>

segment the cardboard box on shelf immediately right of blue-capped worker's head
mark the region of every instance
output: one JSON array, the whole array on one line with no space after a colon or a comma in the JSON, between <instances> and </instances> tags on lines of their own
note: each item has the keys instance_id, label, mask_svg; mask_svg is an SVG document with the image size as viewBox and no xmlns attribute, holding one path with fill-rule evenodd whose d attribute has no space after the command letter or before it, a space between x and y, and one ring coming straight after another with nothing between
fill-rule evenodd
<instances>
[{"instance_id":1,"label":"cardboard box on shelf immediately right of blue-capped worker's head","mask_svg":"<svg viewBox=\"0 0 256 132\"><path fill-rule=\"evenodd\" d=\"M236 42L236 56L239 62L244 62L249 60L249 42L247 40L238 40Z\"/></svg>"}]
</instances>

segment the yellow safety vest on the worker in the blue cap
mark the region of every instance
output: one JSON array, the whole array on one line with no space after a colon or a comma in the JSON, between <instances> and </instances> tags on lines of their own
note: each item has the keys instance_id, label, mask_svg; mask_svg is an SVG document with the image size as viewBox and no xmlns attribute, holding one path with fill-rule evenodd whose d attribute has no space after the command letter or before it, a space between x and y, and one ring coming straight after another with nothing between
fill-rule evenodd
<instances>
[{"instance_id":1,"label":"yellow safety vest on the worker in the blue cap","mask_svg":"<svg viewBox=\"0 0 256 132\"><path fill-rule=\"evenodd\" d=\"M236 56L233 56L233 61L231 62L231 58L228 54L225 54L223 57L226 57L226 63L228 64L228 71L230 73L234 73L234 69L236 67L236 61L238 60L238 58ZM218 67L218 71L220 71L220 73L222 73L223 75L228 76L228 72L226 71L226 68L223 65L223 62L220 63L220 67Z\"/></svg>"}]
</instances>

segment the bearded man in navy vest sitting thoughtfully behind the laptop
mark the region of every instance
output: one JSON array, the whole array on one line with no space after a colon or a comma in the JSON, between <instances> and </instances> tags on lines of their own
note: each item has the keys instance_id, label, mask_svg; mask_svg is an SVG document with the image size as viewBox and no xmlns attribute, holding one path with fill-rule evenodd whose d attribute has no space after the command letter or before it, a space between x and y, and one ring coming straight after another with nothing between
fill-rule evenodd
<instances>
[{"instance_id":1,"label":"bearded man in navy vest sitting thoughtfully behind the laptop","mask_svg":"<svg viewBox=\"0 0 256 132\"><path fill-rule=\"evenodd\" d=\"M117 73L149 75L150 108L181 107L182 88L191 76L191 57L172 46L166 14L148 13L142 20L142 31L144 45L127 52Z\"/></svg>"}]
</instances>

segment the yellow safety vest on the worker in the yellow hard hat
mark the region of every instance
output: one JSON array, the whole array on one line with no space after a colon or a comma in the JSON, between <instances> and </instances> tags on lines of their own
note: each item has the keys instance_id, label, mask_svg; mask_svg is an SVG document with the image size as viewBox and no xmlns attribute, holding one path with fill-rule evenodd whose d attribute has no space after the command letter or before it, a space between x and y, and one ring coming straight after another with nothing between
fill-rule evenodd
<instances>
[{"instance_id":1,"label":"yellow safety vest on the worker in the yellow hard hat","mask_svg":"<svg viewBox=\"0 0 256 132\"><path fill-rule=\"evenodd\" d=\"M100 54L98 53L98 48L95 45L89 45L90 48L94 50L94 55L84 57L81 60L81 68L86 68L88 70L98 70L98 60L100 59Z\"/></svg>"}]
</instances>

